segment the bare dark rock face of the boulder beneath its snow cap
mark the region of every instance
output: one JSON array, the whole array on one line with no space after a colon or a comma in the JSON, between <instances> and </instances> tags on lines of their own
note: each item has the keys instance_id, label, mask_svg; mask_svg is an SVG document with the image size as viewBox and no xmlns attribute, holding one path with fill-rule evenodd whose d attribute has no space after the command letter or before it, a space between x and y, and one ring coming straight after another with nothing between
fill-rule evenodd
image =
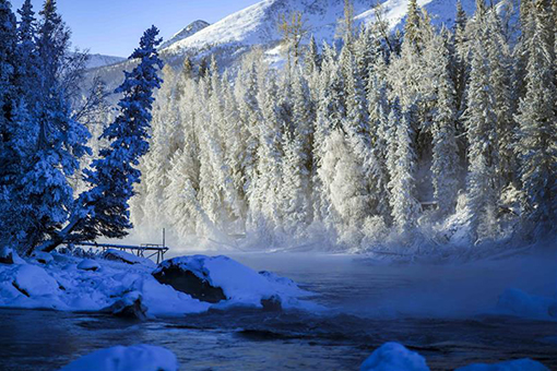
<instances>
[{"instance_id":1,"label":"bare dark rock face of the boulder beneath its snow cap","mask_svg":"<svg viewBox=\"0 0 557 371\"><path fill-rule=\"evenodd\" d=\"M212 286L209 279L199 277L183 264L174 264L173 260L163 262L153 272L153 277L200 301L216 303L227 299L221 287Z\"/></svg>"}]
</instances>

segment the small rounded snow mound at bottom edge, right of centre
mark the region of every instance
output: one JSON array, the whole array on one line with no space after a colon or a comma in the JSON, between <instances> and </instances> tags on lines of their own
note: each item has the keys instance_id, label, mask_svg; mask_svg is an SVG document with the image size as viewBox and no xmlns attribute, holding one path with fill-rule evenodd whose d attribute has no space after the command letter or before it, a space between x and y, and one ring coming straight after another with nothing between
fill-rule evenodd
<instances>
[{"instance_id":1,"label":"small rounded snow mound at bottom edge, right of centre","mask_svg":"<svg viewBox=\"0 0 557 371\"><path fill-rule=\"evenodd\" d=\"M362 363L360 371L429 371L424 357L399 343L386 343Z\"/></svg>"}]
</instances>

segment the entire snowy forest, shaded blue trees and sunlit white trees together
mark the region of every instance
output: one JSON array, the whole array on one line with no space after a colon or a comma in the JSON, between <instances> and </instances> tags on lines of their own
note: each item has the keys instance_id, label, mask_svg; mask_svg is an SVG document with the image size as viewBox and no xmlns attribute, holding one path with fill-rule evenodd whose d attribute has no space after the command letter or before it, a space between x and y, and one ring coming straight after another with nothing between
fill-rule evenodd
<instances>
[{"instance_id":1,"label":"entire snowy forest, shaded blue trees and sunlit white trees together","mask_svg":"<svg viewBox=\"0 0 557 371\"><path fill-rule=\"evenodd\" d=\"M133 227L352 252L555 231L557 1L523 2L515 27L459 2L449 29L412 0L390 32L346 0L335 43L285 14L281 63L254 47L227 69L163 68L153 27L116 109L103 82L83 93L56 1L17 13L0 1L0 229L19 251Z\"/></svg>"}]
</instances>

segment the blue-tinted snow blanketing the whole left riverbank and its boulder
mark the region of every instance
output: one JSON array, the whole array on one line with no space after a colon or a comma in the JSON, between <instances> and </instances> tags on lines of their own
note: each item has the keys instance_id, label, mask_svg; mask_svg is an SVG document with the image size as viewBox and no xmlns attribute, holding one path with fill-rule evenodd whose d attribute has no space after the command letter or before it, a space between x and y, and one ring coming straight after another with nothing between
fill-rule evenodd
<instances>
[{"instance_id":1,"label":"blue-tinted snow blanketing the whole left riverbank and its boulder","mask_svg":"<svg viewBox=\"0 0 557 371\"><path fill-rule=\"evenodd\" d=\"M149 316L199 313L213 306L257 306L261 299L278 296L284 308L315 310L317 304L301 300L308 292L292 280L274 274L258 274L226 256L185 256L198 272L205 272L214 285L223 287L230 300L210 304L159 284L153 276L153 265L126 264L96 259L82 259L52 253L54 260L39 264L20 260L16 264L0 264L0 307L55 309L62 311L99 311L118 300L141 297ZM79 268L80 264L98 264L96 271Z\"/></svg>"}]
</instances>

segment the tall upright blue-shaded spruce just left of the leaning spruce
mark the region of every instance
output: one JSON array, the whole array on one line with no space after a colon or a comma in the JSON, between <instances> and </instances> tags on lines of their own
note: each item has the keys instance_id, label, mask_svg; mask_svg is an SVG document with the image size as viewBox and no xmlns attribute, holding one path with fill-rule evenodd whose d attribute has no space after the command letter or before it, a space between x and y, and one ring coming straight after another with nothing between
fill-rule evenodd
<instances>
[{"instance_id":1,"label":"tall upright blue-shaded spruce just left of the leaning spruce","mask_svg":"<svg viewBox=\"0 0 557 371\"><path fill-rule=\"evenodd\" d=\"M39 80L35 89L38 137L34 145L33 164L24 169L21 187L27 224L25 243L27 252L44 241L54 239L67 223L73 207L73 189L69 177L79 169L80 158L90 152L87 129L72 118L68 84L62 80L69 53L70 32L57 13L56 1L47 0L40 12L37 31L37 55L40 60Z\"/></svg>"}]
</instances>

